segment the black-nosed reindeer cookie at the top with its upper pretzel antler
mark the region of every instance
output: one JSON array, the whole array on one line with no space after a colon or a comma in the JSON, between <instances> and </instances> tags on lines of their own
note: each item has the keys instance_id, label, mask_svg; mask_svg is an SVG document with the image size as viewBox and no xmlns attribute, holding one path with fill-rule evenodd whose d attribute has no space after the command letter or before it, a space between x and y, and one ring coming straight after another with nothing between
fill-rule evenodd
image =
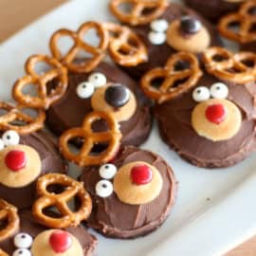
<instances>
[{"instance_id":1,"label":"black-nosed reindeer cookie at the top with its upper pretzel antler","mask_svg":"<svg viewBox=\"0 0 256 256\"><path fill-rule=\"evenodd\" d=\"M121 5L132 8L125 12ZM140 78L155 66L165 64L168 57L177 51L199 54L209 46L222 45L214 27L192 9L181 5L163 0L112 0L110 8L119 21L132 26L147 48L146 62L124 67L135 78Z\"/></svg>"}]
</instances>

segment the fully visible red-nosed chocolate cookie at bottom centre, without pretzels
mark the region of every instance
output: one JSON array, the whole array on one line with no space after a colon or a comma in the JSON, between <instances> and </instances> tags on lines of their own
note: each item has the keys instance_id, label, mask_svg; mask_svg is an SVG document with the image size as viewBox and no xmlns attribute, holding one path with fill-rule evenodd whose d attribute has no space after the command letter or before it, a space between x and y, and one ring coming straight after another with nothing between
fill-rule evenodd
<instances>
[{"instance_id":1,"label":"fully visible red-nosed chocolate cookie at bottom centre, without pretzels","mask_svg":"<svg viewBox=\"0 0 256 256\"><path fill-rule=\"evenodd\" d=\"M172 169L159 155L136 147L122 148L111 164L87 168L81 180L93 200L87 225L107 237L146 235L174 206Z\"/></svg>"}]
</instances>

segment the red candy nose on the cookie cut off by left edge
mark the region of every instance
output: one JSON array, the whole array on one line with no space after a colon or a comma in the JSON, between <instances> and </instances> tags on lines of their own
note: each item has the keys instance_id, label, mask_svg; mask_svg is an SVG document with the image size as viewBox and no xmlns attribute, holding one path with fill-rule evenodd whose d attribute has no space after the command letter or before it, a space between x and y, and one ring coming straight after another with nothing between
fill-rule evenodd
<instances>
[{"instance_id":1,"label":"red candy nose on the cookie cut off by left edge","mask_svg":"<svg viewBox=\"0 0 256 256\"><path fill-rule=\"evenodd\" d=\"M10 171L18 172L26 166L27 157L23 151L12 150L6 155L5 162Z\"/></svg>"}]
</instances>

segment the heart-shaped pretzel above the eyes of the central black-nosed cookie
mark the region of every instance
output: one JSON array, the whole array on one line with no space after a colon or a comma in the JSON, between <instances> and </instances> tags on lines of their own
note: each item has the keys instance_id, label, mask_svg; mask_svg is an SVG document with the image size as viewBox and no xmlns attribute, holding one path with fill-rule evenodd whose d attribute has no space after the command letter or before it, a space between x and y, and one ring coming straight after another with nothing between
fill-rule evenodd
<instances>
[{"instance_id":1,"label":"heart-shaped pretzel above the eyes of the central black-nosed cookie","mask_svg":"<svg viewBox=\"0 0 256 256\"><path fill-rule=\"evenodd\" d=\"M99 46L91 46L84 41L84 36L92 29L97 32L97 36L100 38ZM73 41L73 46L71 46L66 54L63 54L58 46L58 41L62 37L69 37ZM101 24L86 22L82 24L77 32L64 28L56 31L50 39L50 50L52 55L69 70L76 73L87 73L101 63L101 60L105 57L108 42L108 33ZM91 57L86 59L80 58L79 53L81 51L88 53Z\"/></svg>"}]
</instances>

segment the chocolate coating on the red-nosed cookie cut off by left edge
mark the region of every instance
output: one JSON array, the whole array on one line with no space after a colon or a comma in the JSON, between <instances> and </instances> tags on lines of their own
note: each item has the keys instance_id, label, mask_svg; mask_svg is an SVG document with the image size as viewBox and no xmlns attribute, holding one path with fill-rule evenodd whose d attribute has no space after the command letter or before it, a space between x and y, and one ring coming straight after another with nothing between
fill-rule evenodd
<instances>
[{"instance_id":1,"label":"chocolate coating on the red-nosed cookie cut off by left edge","mask_svg":"<svg viewBox=\"0 0 256 256\"><path fill-rule=\"evenodd\" d=\"M53 138L44 132L37 132L21 136L20 144L34 148L42 161L41 175L48 173L66 173L67 164L59 154L57 144ZM25 209L32 205L35 198L35 184L33 181L23 188L9 188L0 184L0 197L7 200L18 209Z\"/></svg>"}]
</instances>

